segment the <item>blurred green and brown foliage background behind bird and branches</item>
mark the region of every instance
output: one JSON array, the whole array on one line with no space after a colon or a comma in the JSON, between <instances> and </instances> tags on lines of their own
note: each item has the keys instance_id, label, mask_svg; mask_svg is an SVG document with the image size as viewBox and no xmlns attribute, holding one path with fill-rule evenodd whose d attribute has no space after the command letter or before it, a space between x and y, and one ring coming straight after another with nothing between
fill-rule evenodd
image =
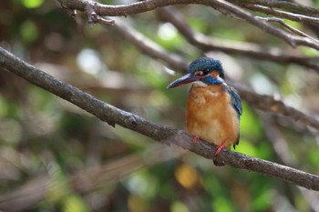
<instances>
[{"instance_id":1,"label":"blurred green and brown foliage background behind bird and branches","mask_svg":"<svg viewBox=\"0 0 319 212\"><path fill-rule=\"evenodd\" d=\"M318 5L318 1L314 4ZM141 54L112 26L90 28L82 15L75 20L54 1L12 0L1 5L0 45L16 56L111 105L156 123L185 127L188 88L167 90L166 86L176 76L166 72L160 62ZM291 51L272 35L211 8L189 5L178 9L194 29L205 35ZM174 26L161 23L155 12L131 15L125 21L163 48L189 60L202 55ZM293 25L306 30L302 25ZM293 51L317 56L309 48ZM212 56L225 61L227 75L232 80L251 86L260 94L281 96L285 103L302 111L319 113L319 78L304 67L226 56L221 52L213 52ZM167 160L161 157L161 162L149 160L143 157L147 146L154 144L148 137L101 123L76 106L0 69L0 209L312 210L303 190L278 179L232 167L213 167L211 161L190 153ZM264 116L270 115L255 111L243 102L241 143L236 151L283 163L266 134ZM274 118L273 127L283 136L281 142L286 143L286 154L294 159L293 166L318 175L318 137L314 130L283 116ZM77 173L89 173L90 168L100 168L126 156L140 156L143 160L132 170L122 170L120 166L109 169L104 173L108 180L100 180L101 175L75 186L72 177ZM125 163L129 164L130 160ZM124 174L108 175L117 171ZM41 187L39 192L36 184L30 184L37 177L48 177L53 184ZM89 185L95 187L85 189ZM20 194L23 188L28 188L27 193ZM28 200L16 204L15 198L19 196L10 196L14 191ZM41 197L30 200L29 197L41 193L44 193Z\"/></svg>"}]
</instances>

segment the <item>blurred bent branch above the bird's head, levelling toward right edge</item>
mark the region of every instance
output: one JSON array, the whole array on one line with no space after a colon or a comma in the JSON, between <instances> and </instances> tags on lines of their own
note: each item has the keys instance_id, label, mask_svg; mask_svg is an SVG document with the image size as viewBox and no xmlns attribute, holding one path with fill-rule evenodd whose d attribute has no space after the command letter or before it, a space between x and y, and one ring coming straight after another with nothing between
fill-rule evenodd
<instances>
[{"instance_id":1,"label":"blurred bent branch above the bird's head, levelling toward right edge","mask_svg":"<svg viewBox=\"0 0 319 212\"><path fill-rule=\"evenodd\" d=\"M195 45L203 51L218 50L228 54L250 56L252 58L279 63L293 63L299 66L312 68L319 73L319 66L313 63L319 60L319 57L317 56L293 56L283 53L282 50L274 47L264 47L250 43L239 43L208 37L191 29L190 25L185 22L185 18L180 15L177 10L173 10L170 7L164 7L157 9L157 12L160 15L161 20L174 25L190 44Z\"/></svg>"}]
</instances>

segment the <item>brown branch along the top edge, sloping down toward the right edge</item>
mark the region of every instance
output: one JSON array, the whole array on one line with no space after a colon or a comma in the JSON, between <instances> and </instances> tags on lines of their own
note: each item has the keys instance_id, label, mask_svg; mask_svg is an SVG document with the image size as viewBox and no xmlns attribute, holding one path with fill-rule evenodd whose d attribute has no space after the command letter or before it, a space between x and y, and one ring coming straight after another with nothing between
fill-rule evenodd
<instances>
[{"instance_id":1,"label":"brown branch along the top edge, sloping down toward the right edge","mask_svg":"<svg viewBox=\"0 0 319 212\"><path fill-rule=\"evenodd\" d=\"M224 11L223 14L226 15L236 15L237 17L242 18L246 22L255 25L262 29L262 31L269 34L275 35L283 39L289 45L295 47L296 45L305 45L312 47L314 49L319 49L319 43L314 42L314 40L309 39L308 37L302 37L298 35L291 35L285 32L284 30L269 25L267 22L264 22L247 11L243 10L237 5L232 5L232 3L226 2L224 0L148 0L141 1L137 3L132 3L129 5L102 5L93 1L84 1L84 0L58 0L61 5L66 6L67 8L73 10L77 9L83 12L87 12L87 15L90 15L91 11L87 11L87 8L95 8L95 12L91 15L101 15L101 16L119 16L119 15L132 15L138 14L146 11L156 9L158 7L163 7L167 5L207 5L219 11ZM78 2L77 2L78 1ZM91 6L87 6L91 5Z\"/></svg>"}]
</instances>

